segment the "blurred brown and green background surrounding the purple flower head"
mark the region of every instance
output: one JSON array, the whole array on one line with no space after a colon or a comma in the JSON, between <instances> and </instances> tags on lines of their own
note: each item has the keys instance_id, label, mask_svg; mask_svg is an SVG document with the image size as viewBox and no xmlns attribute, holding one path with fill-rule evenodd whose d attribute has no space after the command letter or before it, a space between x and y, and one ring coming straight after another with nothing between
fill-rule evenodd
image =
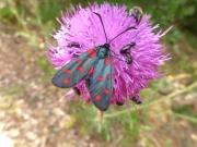
<instances>
[{"instance_id":1,"label":"blurred brown and green background surrounding the purple flower head","mask_svg":"<svg viewBox=\"0 0 197 147\"><path fill-rule=\"evenodd\" d=\"M141 7L163 30L174 26L162 38L172 60L159 69L166 76L140 94L140 113L117 107L102 124L94 106L63 99L67 89L51 85L56 71L44 54L46 41L56 45L56 17L79 2L0 1L0 147L197 146L197 0L118 1Z\"/></svg>"}]
</instances>

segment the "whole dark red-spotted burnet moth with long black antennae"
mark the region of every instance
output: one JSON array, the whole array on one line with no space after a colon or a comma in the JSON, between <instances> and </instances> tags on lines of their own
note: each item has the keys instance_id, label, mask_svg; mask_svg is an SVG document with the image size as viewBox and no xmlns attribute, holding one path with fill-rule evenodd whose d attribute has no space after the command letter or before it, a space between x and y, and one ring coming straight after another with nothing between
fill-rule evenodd
<instances>
[{"instance_id":1,"label":"whole dark red-spotted burnet moth with long black antennae","mask_svg":"<svg viewBox=\"0 0 197 147\"><path fill-rule=\"evenodd\" d=\"M112 56L113 51L109 49L109 44L121 34L130 29L136 29L136 27L130 26L107 41L102 17L99 13L94 12L94 14L96 14L101 21L106 42L85 51L66 64L55 74L53 77L53 84L60 88L70 88L74 87L84 79L85 86L90 91L91 100L93 101L94 106L101 111L106 111L112 99L114 74L114 56ZM76 42L70 44L69 46L79 47ZM126 51L123 50L123 52ZM128 63L128 61L125 62ZM80 94L78 88L74 88L74 90Z\"/></svg>"}]
</instances>

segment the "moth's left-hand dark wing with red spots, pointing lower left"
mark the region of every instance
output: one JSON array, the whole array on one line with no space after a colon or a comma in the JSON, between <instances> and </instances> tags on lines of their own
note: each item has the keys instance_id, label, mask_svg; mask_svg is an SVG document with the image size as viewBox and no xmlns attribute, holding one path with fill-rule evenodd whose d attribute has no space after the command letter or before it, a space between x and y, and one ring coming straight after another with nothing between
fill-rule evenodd
<instances>
[{"instance_id":1,"label":"moth's left-hand dark wing with red spots, pointing lower left","mask_svg":"<svg viewBox=\"0 0 197 147\"><path fill-rule=\"evenodd\" d=\"M53 84L60 88L73 87L92 73L96 60L96 50L88 50L58 71L53 77Z\"/></svg>"}]
</instances>

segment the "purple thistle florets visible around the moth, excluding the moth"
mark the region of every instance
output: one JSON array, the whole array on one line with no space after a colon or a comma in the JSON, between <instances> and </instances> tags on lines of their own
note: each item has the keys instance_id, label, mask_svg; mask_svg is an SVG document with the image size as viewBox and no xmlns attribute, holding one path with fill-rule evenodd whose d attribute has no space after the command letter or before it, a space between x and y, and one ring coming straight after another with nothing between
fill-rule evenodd
<instances>
[{"instance_id":1,"label":"purple thistle florets visible around the moth, excluding the moth","mask_svg":"<svg viewBox=\"0 0 197 147\"><path fill-rule=\"evenodd\" d=\"M167 54L164 54L164 46L160 42L160 38L171 28L164 33L161 30L153 33L159 25L151 26L149 23L150 15L143 15L138 24L135 17L128 15L126 5L111 5L105 2L101 5L97 3L90 4L88 8L78 5L74 9L72 7L72 13L66 10L61 20L58 19L61 27L53 35L57 40L57 47L49 44L49 50L46 51L49 61L57 70L60 70L86 50L106 42L102 24L93 12L102 16L107 40L111 40L129 26L137 28L120 35L111 42L111 50L118 54L118 58L121 60L125 60L125 57L119 53L119 50L130 42L136 42L135 47L130 49L131 64L114 58L111 105L128 105L126 100L132 98L141 101L139 93L148 87L149 82L163 75L157 72L157 68L169 60ZM76 87L80 90L83 101L91 103L84 81ZM76 96L76 93L70 89L66 96L72 98Z\"/></svg>"}]
</instances>

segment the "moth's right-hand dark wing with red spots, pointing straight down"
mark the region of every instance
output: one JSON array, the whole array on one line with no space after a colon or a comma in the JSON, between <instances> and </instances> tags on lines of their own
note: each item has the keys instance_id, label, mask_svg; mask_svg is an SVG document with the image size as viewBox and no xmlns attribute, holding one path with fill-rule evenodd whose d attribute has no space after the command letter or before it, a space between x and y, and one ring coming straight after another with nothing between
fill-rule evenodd
<instances>
[{"instance_id":1,"label":"moth's right-hand dark wing with red spots, pointing straight down","mask_svg":"<svg viewBox=\"0 0 197 147\"><path fill-rule=\"evenodd\" d=\"M109 54L109 51L107 54ZM85 79L85 84L95 107L106 111L113 94L113 65L111 57L107 56L95 62L93 76Z\"/></svg>"}]
</instances>

